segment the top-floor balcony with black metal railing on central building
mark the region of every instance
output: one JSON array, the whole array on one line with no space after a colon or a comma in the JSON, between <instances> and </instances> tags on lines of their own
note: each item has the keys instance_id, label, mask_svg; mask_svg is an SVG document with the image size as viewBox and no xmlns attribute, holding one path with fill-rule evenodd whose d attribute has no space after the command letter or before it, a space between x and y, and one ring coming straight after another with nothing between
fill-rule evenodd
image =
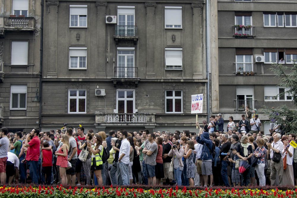
<instances>
[{"instance_id":1,"label":"top-floor balcony with black metal railing on central building","mask_svg":"<svg viewBox=\"0 0 297 198\"><path fill-rule=\"evenodd\" d=\"M119 40L132 40L134 44L137 44L137 26L115 26L115 35L113 38L116 44L119 44Z\"/></svg>"}]
</instances>

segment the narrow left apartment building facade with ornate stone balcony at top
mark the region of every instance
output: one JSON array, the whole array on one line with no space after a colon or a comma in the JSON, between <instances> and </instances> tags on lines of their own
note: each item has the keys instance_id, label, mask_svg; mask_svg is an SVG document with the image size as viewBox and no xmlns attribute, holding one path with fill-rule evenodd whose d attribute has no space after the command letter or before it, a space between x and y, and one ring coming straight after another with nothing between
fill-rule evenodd
<instances>
[{"instance_id":1,"label":"narrow left apartment building facade with ornate stone balcony at top","mask_svg":"<svg viewBox=\"0 0 297 198\"><path fill-rule=\"evenodd\" d=\"M2 1L0 12L0 126L31 132L40 121L33 102L39 95L40 1Z\"/></svg>"}]
</instances>

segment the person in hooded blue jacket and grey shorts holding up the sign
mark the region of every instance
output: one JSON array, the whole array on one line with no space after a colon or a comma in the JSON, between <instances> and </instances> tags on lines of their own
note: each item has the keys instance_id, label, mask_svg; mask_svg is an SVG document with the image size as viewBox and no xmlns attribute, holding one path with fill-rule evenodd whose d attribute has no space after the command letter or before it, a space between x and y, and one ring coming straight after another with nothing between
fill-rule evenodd
<instances>
[{"instance_id":1,"label":"person in hooded blue jacket and grey shorts holding up the sign","mask_svg":"<svg viewBox=\"0 0 297 198\"><path fill-rule=\"evenodd\" d=\"M196 125L199 126L199 123L196 123ZM212 175L212 163L211 163L213 158L211 154L213 142L209 139L209 133L208 132L203 133L202 130L203 130L202 128L199 129L199 134L196 138L196 141L199 144L203 145L202 153L200 156L202 160L201 171L204 178L204 186L207 187L208 175L210 176L210 186L212 186L212 183L214 180L214 177Z\"/></svg>"}]
</instances>

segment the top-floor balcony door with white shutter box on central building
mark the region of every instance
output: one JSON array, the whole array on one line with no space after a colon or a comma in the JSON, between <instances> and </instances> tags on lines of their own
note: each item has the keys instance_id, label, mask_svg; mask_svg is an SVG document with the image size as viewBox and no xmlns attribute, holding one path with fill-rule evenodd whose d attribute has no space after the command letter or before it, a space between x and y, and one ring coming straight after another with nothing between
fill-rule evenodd
<instances>
[{"instance_id":1,"label":"top-floor balcony door with white shutter box on central building","mask_svg":"<svg viewBox=\"0 0 297 198\"><path fill-rule=\"evenodd\" d=\"M122 8L120 8L122 7ZM135 36L135 7L118 6L118 28L120 36Z\"/></svg>"}]
</instances>

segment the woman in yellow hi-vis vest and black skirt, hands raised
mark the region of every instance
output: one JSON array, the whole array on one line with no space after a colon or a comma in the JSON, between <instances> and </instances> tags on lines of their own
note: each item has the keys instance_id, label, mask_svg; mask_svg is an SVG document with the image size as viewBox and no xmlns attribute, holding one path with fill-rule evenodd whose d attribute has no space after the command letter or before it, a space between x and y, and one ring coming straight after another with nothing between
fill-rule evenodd
<instances>
[{"instance_id":1,"label":"woman in yellow hi-vis vest and black skirt, hands raised","mask_svg":"<svg viewBox=\"0 0 297 198\"><path fill-rule=\"evenodd\" d=\"M94 171L95 176L97 178L97 182L99 186L103 185L101 172L103 170L102 167L102 158L103 155L103 146L102 146L102 137L100 135L95 135L96 138L96 146L92 148L92 144L90 142L87 142L88 148L90 153L92 153L92 163L91 163L91 169ZM104 171L104 170L103 170Z\"/></svg>"}]
</instances>

